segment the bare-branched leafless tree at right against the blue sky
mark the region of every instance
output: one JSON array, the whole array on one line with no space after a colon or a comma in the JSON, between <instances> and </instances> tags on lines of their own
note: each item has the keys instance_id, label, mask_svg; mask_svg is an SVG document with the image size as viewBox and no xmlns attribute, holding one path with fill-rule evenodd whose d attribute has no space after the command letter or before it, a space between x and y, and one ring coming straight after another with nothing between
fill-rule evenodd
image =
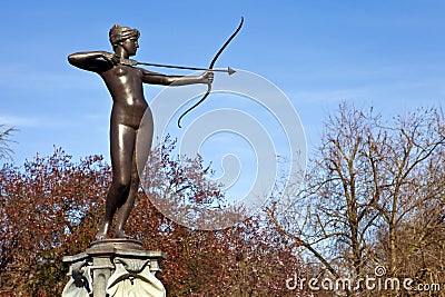
<instances>
[{"instance_id":1,"label":"bare-branched leafless tree at right against the blue sky","mask_svg":"<svg viewBox=\"0 0 445 297\"><path fill-rule=\"evenodd\" d=\"M287 218L270 208L271 220L335 278L357 279L377 265L395 277L439 271L444 123L438 109L385 123L373 108L364 112L340 105L325 122L296 207ZM413 259L434 255L436 263L424 260L408 269L413 253Z\"/></svg>"}]
</instances>

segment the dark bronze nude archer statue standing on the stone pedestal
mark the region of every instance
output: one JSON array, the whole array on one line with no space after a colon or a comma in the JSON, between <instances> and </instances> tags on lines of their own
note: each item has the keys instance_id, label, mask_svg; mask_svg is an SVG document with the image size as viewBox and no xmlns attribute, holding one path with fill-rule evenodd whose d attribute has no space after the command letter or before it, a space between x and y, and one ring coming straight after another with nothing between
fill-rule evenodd
<instances>
[{"instance_id":1,"label":"dark bronze nude archer statue standing on the stone pedestal","mask_svg":"<svg viewBox=\"0 0 445 297\"><path fill-rule=\"evenodd\" d=\"M109 32L113 53L107 51L77 52L68 57L71 65L98 73L105 81L111 98L110 151L112 181L108 190L106 211L98 240L108 238L115 212L118 211L115 238L128 238L123 227L131 212L139 188L136 166L136 138L145 112L150 112L144 98L142 83L184 86L191 83L210 85L214 73L200 76L166 76L125 62L135 56L139 47L139 31L115 24ZM149 145L152 138L152 121L148 127ZM150 148L148 147L147 150Z\"/></svg>"}]
</instances>

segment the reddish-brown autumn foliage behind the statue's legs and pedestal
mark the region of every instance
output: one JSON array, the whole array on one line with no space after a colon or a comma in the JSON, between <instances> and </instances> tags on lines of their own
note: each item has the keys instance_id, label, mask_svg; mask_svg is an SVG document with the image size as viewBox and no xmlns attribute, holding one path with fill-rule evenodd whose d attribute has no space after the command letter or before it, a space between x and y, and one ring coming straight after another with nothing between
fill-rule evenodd
<instances>
[{"instance_id":1,"label":"reddish-brown autumn foliage behind the statue's legs and pedestal","mask_svg":"<svg viewBox=\"0 0 445 297\"><path fill-rule=\"evenodd\" d=\"M168 174L158 195L189 186L191 176L195 187L181 195L222 199L206 186L199 158L180 167L168 146L154 166ZM68 281L62 257L95 240L110 175L101 157L73 162L61 149L0 170L1 296L60 296ZM285 281L299 267L294 246L259 216L220 231L191 230L158 212L141 190L127 225L147 249L167 254L158 277L168 296L286 296Z\"/></svg>"}]
</instances>

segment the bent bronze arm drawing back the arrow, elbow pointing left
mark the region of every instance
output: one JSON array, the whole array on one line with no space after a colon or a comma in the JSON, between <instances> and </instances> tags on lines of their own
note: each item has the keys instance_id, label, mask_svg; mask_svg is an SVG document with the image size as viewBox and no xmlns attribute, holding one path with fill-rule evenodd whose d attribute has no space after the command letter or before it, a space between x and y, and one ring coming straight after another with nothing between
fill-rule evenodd
<instances>
[{"instance_id":1,"label":"bent bronze arm drawing back the arrow, elbow pointing left","mask_svg":"<svg viewBox=\"0 0 445 297\"><path fill-rule=\"evenodd\" d=\"M107 51L85 51L68 56L68 61L80 69L100 72L113 66L113 55Z\"/></svg>"}]
</instances>

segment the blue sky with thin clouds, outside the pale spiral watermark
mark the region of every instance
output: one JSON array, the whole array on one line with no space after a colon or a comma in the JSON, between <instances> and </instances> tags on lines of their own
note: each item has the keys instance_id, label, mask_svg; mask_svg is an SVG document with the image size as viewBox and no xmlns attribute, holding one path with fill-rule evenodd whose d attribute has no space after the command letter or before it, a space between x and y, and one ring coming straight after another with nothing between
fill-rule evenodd
<instances>
[{"instance_id":1,"label":"blue sky with thin clouds, outside the pale spiral watermark","mask_svg":"<svg viewBox=\"0 0 445 297\"><path fill-rule=\"evenodd\" d=\"M67 56L110 50L113 23L140 30L137 59L207 67L244 16L217 66L278 86L300 116L309 154L325 116L344 100L387 117L444 102L445 1L128 3L0 4L0 122L18 129L17 165L52 154L53 146L75 159L99 154L108 160L110 97L97 75L71 67ZM147 101L160 90L147 86Z\"/></svg>"}]
</instances>

